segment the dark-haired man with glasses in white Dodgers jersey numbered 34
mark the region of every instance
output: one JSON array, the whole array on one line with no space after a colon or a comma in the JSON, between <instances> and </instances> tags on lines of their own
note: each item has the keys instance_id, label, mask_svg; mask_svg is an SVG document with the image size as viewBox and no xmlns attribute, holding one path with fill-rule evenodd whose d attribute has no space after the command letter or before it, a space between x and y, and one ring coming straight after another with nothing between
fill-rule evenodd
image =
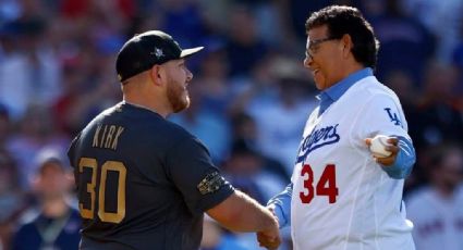
<instances>
[{"instance_id":1,"label":"dark-haired man with glasses in white Dodgers jersey numbered 34","mask_svg":"<svg viewBox=\"0 0 463 250\"><path fill-rule=\"evenodd\" d=\"M306 32L304 65L320 103L306 123L291 184L268 207L280 227L291 225L296 250L414 249L402 192L415 151L398 97L373 75L373 28L357 9L332 5L313 13ZM373 157L376 135L391 137L390 157Z\"/></svg>"}]
</instances>

